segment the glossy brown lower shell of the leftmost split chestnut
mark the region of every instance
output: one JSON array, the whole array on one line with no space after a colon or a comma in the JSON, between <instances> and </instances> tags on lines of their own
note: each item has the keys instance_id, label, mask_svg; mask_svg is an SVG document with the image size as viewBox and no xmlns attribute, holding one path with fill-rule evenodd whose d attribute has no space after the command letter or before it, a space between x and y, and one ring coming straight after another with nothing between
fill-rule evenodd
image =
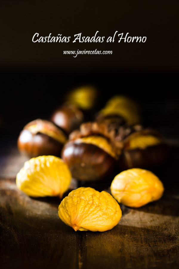
<instances>
[{"instance_id":1,"label":"glossy brown lower shell of the leftmost split chestnut","mask_svg":"<svg viewBox=\"0 0 179 269\"><path fill-rule=\"evenodd\" d=\"M29 157L40 155L60 156L63 144L52 137L40 132L32 134L29 130L23 129L18 137L18 150Z\"/></svg>"}]
</instances>

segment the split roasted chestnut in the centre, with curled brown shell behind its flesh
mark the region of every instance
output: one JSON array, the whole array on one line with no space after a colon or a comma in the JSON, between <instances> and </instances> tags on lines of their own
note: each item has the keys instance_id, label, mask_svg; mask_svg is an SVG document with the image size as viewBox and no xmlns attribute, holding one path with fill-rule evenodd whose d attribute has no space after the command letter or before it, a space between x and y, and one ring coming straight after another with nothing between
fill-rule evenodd
<instances>
[{"instance_id":1,"label":"split roasted chestnut in the centre, with curled brown shell behind its flesh","mask_svg":"<svg viewBox=\"0 0 179 269\"><path fill-rule=\"evenodd\" d=\"M70 134L61 157L70 168L73 178L96 181L112 172L122 146L120 143L118 147L113 146L112 134L105 124L96 122L83 123L80 131Z\"/></svg>"}]
</instances>

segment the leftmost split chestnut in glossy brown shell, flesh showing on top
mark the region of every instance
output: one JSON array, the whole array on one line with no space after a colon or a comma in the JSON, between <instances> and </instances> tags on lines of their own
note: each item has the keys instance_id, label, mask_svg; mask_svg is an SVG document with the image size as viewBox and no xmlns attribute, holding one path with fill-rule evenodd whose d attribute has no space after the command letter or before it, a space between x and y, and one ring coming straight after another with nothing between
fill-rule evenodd
<instances>
[{"instance_id":1,"label":"leftmost split chestnut in glossy brown shell, flesh showing on top","mask_svg":"<svg viewBox=\"0 0 179 269\"><path fill-rule=\"evenodd\" d=\"M47 120L33 120L24 126L18 137L18 150L29 157L61 155L67 137L63 131Z\"/></svg>"}]
</instances>

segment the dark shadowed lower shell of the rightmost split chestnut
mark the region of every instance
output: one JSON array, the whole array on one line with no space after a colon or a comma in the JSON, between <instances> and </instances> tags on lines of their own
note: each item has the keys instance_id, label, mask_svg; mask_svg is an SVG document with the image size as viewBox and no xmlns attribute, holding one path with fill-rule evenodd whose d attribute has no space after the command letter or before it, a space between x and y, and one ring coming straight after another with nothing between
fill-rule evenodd
<instances>
[{"instance_id":1,"label":"dark shadowed lower shell of the rightmost split chestnut","mask_svg":"<svg viewBox=\"0 0 179 269\"><path fill-rule=\"evenodd\" d=\"M124 150L118 160L118 167L122 170L130 168L151 168L160 166L166 161L168 146L160 143L145 149Z\"/></svg>"}]
</instances>

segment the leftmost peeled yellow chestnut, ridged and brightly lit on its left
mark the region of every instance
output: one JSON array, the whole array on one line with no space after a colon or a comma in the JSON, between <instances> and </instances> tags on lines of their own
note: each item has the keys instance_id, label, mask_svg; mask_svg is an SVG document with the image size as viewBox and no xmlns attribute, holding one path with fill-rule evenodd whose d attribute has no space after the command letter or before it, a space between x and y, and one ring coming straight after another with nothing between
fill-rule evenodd
<instances>
[{"instance_id":1,"label":"leftmost peeled yellow chestnut, ridged and brightly lit on its left","mask_svg":"<svg viewBox=\"0 0 179 269\"><path fill-rule=\"evenodd\" d=\"M60 196L69 188L71 173L61 158L38 156L24 163L16 176L18 189L32 197Z\"/></svg>"}]
</instances>

